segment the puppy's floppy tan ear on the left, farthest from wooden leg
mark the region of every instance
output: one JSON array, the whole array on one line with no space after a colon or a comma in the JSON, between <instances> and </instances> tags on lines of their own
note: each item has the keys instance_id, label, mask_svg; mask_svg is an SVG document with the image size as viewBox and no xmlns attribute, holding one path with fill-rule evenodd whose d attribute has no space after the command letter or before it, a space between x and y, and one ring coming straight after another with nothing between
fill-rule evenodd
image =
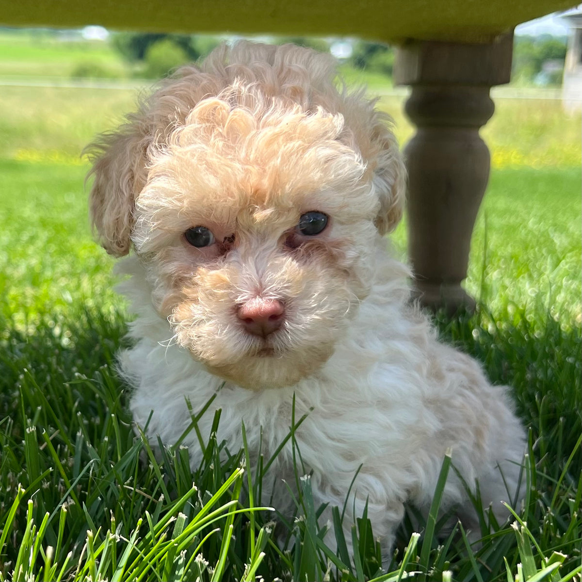
<instances>
[{"instance_id":1,"label":"puppy's floppy tan ear on the left, farthest from wooden leg","mask_svg":"<svg viewBox=\"0 0 582 582\"><path fill-rule=\"evenodd\" d=\"M87 150L95 177L89 196L91 224L109 254L129 253L137 195L145 185L148 139L127 124L118 132L103 134Z\"/></svg>"}]
</instances>

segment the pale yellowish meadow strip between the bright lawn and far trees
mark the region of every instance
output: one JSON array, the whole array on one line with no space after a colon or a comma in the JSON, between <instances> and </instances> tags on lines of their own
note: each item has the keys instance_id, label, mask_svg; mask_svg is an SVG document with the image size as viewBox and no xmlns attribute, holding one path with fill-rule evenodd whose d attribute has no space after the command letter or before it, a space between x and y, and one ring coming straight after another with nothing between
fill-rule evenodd
<instances>
[{"instance_id":1,"label":"pale yellowish meadow strip between the bright lawn and far trees","mask_svg":"<svg viewBox=\"0 0 582 582\"><path fill-rule=\"evenodd\" d=\"M96 133L113 129L136 108L142 91L2 87L0 157L74 162ZM403 112L404 100L393 96L379 102L394 118L396 136L403 145L414 134ZM581 128L580 112L566 113L560 101L498 99L495 114L481 134L494 168L579 167Z\"/></svg>"}]
</instances>

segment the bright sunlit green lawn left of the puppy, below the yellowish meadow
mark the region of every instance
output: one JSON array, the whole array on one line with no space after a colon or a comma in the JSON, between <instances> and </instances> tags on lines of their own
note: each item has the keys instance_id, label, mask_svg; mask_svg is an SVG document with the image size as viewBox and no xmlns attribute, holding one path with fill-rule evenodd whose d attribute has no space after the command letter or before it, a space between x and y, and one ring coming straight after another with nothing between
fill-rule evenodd
<instances>
[{"instance_id":1,"label":"bright sunlit green lawn left of the puppy, below the yellowish meadow","mask_svg":"<svg viewBox=\"0 0 582 582\"><path fill-rule=\"evenodd\" d=\"M0 310L34 332L73 304L112 310L112 260L91 239L85 166L0 162Z\"/></svg>"}]
</instances>

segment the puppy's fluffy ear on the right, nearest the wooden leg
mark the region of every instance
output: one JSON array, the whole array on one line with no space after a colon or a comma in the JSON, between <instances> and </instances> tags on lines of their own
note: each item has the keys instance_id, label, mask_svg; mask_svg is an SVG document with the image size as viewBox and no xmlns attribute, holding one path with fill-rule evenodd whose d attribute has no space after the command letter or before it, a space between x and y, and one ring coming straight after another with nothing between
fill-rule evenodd
<instances>
[{"instance_id":1,"label":"puppy's fluffy ear on the right, nearest the wooden leg","mask_svg":"<svg viewBox=\"0 0 582 582\"><path fill-rule=\"evenodd\" d=\"M381 235L391 232L402 218L406 201L406 166L388 115L375 112L371 141L375 155L372 184L380 201L375 225ZM373 162L372 162L373 163Z\"/></svg>"}]
</instances>

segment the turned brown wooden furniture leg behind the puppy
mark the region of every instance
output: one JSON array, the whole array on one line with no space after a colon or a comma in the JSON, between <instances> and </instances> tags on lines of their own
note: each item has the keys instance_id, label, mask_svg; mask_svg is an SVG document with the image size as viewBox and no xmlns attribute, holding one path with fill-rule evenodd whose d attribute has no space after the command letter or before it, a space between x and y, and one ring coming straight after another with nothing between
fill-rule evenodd
<instances>
[{"instance_id":1,"label":"turned brown wooden furniture leg behind the puppy","mask_svg":"<svg viewBox=\"0 0 582 582\"><path fill-rule=\"evenodd\" d=\"M461 287L471 233L489 178L479 129L493 115L489 88L507 83L512 37L482 45L413 42L398 49L395 80L412 93L417 133L404 149L409 172L409 257L421 302L454 312L475 301Z\"/></svg>"}]
</instances>

